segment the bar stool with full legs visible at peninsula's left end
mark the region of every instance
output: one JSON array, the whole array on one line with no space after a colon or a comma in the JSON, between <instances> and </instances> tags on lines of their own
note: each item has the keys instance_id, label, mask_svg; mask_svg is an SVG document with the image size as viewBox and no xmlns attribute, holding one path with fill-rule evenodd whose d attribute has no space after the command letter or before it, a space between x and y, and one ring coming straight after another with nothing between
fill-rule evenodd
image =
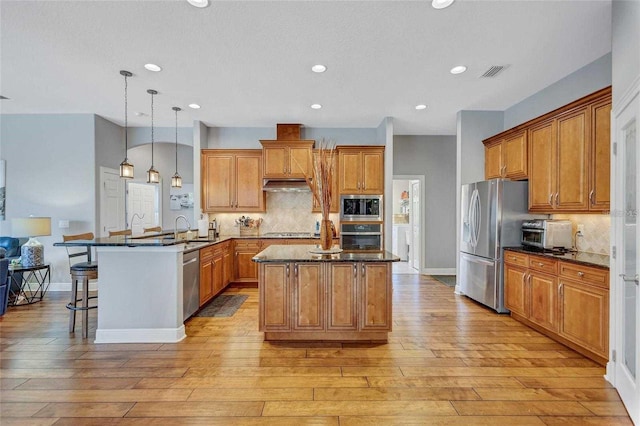
<instances>
[{"instance_id":1,"label":"bar stool with full legs visible at peninsula's left end","mask_svg":"<svg viewBox=\"0 0 640 426\"><path fill-rule=\"evenodd\" d=\"M76 235L63 235L62 241L73 240L93 240L92 232ZM89 296L89 281L98 279L98 263L91 261L91 247L86 246L86 250L79 252L71 252L69 249L74 247L67 246L67 254L69 256L69 271L71 273L71 302L67 304L69 309L69 333L74 333L76 328L76 311L82 312L82 337L87 338L89 334L89 309L96 309L98 305L89 306L89 299L95 299L98 296ZM86 262L71 263L71 259L86 256ZM82 281L82 297L78 299L78 281ZM78 306L78 302L82 302Z\"/></svg>"}]
</instances>

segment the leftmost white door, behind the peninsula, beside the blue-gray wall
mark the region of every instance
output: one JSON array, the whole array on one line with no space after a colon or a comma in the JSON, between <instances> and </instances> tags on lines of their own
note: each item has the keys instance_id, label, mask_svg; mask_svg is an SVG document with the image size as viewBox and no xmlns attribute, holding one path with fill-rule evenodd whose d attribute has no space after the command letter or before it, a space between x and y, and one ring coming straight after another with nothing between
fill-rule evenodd
<instances>
[{"instance_id":1,"label":"leftmost white door, behind the peninsula, beside the blue-gray wall","mask_svg":"<svg viewBox=\"0 0 640 426\"><path fill-rule=\"evenodd\" d=\"M118 170L100 167L100 223L98 236L125 228L124 179Z\"/></svg>"}]
</instances>

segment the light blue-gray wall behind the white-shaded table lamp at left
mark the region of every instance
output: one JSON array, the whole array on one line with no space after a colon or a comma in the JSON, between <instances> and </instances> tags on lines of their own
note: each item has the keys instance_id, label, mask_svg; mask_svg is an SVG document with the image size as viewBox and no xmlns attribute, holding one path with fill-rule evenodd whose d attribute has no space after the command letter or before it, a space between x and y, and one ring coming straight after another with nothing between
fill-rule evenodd
<instances>
[{"instance_id":1,"label":"light blue-gray wall behind the white-shaded table lamp at left","mask_svg":"<svg viewBox=\"0 0 640 426\"><path fill-rule=\"evenodd\" d=\"M62 234L95 233L95 119L93 114L2 115L0 143L7 161L6 220L51 217L51 236L38 237L50 262L51 282L70 282L67 252L53 247ZM68 229L58 221L69 220Z\"/></svg>"}]
</instances>

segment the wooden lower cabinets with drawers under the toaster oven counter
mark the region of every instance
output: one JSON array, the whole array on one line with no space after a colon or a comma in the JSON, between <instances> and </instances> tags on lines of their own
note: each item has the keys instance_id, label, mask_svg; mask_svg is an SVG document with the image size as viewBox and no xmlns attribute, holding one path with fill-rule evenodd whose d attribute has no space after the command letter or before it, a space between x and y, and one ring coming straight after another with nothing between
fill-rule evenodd
<instances>
[{"instance_id":1,"label":"wooden lower cabinets with drawers under the toaster oven counter","mask_svg":"<svg viewBox=\"0 0 640 426\"><path fill-rule=\"evenodd\" d=\"M505 306L514 319L596 362L607 362L609 272L606 269L507 250L504 282Z\"/></svg>"}]
</instances>

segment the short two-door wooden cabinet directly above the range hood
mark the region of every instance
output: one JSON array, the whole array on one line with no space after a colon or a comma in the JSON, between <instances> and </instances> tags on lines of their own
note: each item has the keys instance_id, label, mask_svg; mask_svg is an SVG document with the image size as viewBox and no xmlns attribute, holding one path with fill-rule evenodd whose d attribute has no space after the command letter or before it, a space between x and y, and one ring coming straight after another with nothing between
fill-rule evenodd
<instances>
[{"instance_id":1,"label":"short two-door wooden cabinet directly above the range hood","mask_svg":"<svg viewBox=\"0 0 640 426\"><path fill-rule=\"evenodd\" d=\"M311 177L314 141L260 141L265 178Z\"/></svg>"}]
</instances>

